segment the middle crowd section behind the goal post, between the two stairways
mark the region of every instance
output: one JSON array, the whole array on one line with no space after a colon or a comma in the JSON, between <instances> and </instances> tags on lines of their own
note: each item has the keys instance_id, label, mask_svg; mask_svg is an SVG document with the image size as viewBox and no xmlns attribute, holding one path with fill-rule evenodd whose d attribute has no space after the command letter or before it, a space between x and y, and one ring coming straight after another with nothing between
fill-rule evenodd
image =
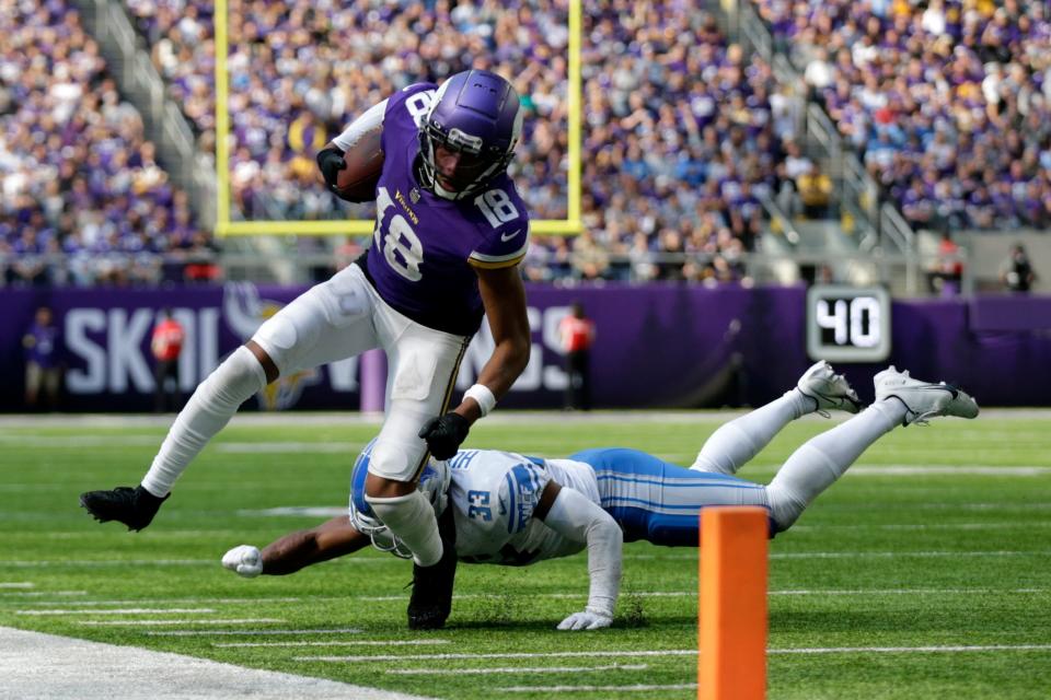
<instances>
[{"instance_id":1,"label":"middle crowd section behind the goal post, between the two stairways","mask_svg":"<svg viewBox=\"0 0 1051 700\"><path fill-rule=\"evenodd\" d=\"M210 151L211 3L126 1ZM535 238L530 279L740 275L740 254L759 232L759 197L795 175L784 171L795 118L769 67L727 46L702 4L617 0L587 8L588 233L573 243ZM392 91L471 65L513 80L531 110L515 177L534 219L566 218L564 0L232 0L228 16L231 185L245 219L347 215L319 186L313 153ZM718 109L723 104L729 108ZM349 213L371 215L368 207ZM683 253L702 261L683 266Z\"/></svg>"}]
</instances>

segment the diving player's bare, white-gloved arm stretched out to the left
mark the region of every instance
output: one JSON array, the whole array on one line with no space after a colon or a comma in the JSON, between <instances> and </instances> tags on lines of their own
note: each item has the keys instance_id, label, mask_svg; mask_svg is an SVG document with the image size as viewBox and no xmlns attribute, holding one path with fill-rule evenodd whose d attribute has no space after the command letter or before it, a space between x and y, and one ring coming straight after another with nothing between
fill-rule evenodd
<instances>
[{"instance_id":1,"label":"diving player's bare, white-gloved arm stretched out to the left","mask_svg":"<svg viewBox=\"0 0 1051 700\"><path fill-rule=\"evenodd\" d=\"M284 575L304 567L350 555L369 545L369 538L350 524L346 515L327 523L289 533L259 551L252 545L239 545L222 556L222 565L245 579L261 573Z\"/></svg>"}]
</instances>

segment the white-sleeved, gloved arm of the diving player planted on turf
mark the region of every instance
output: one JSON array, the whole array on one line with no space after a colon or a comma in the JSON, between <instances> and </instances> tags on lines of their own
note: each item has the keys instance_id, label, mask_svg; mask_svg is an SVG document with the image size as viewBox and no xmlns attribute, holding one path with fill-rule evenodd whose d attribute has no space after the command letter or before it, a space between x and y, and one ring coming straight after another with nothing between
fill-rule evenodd
<instances>
[{"instance_id":1,"label":"white-sleeved, gloved arm of the diving player planted on turf","mask_svg":"<svg viewBox=\"0 0 1051 700\"><path fill-rule=\"evenodd\" d=\"M588 545L588 574L591 579L588 606L559 622L558 629L609 627L613 622L613 607L621 588L624 535L620 525L582 493L555 481L548 481L544 487L534 515L563 537Z\"/></svg>"}]
</instances>

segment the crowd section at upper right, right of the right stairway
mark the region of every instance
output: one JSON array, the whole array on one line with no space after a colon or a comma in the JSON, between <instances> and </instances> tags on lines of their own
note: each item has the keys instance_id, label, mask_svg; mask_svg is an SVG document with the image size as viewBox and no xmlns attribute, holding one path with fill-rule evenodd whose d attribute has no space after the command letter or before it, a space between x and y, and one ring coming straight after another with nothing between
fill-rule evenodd
<instances>
[{"instance_id":1,"label":"crowd section at upper right, right of the right stairway","mask_svg":"<svg viewBox=\"0 0 1051 700\"><path fill-rule=\"evenodd\" d=\"M1046 2L755 4L914 228L1051 226Z\"/></svg>"}]
</instances>

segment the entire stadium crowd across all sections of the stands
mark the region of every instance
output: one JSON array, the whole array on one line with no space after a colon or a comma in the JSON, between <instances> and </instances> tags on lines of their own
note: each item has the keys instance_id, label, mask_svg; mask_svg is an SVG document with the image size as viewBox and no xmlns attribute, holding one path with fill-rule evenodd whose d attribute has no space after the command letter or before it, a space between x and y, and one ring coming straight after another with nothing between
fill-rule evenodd
<instances>
[{"instance_id":1,"label":"entire stadium crowd across all sections of the stands","mask_svg":"<svg viewBox=\"0 0 1051 700\"><path fill-rule=\"evenodd\" d=\"M1051 225L1044 3L754 1L811 96L914 226ZM213 3L125 3L199 149L213 154ZM806 95L729 44L704 4L587 3L585 233L534 235L528 279L740 280L762 199L827 180L799 142ZM207 256L212 243L76 11L62 0L0 7L11 37L0 51L5 279L178 278L182 267L161 260ZM371 218L371 205L324 190L314 153L391 92L477 66L511 79L530 110L512 176L532 218L565 219L567 8L230 0L234 218ZM832 213L828 192L804 196L804 211ZM48 254L68 264L47 265Z\"/></svg>"}]
</instances>

